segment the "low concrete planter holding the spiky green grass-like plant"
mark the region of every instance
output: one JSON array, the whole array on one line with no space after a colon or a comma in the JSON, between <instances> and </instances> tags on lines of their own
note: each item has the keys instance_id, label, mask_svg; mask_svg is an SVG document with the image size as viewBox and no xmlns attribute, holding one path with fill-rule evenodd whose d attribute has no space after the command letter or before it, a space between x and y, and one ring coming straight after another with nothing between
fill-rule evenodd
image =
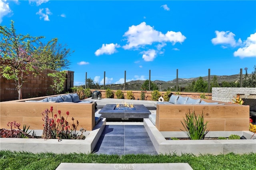
<instances>
[{"instance_id":1,"label":"low concrete planter holding the spiky green grass-like plant","mask_svg":"<svg viewBox=\"0 0 256 170\"><path fill-rule=\"evenodd\" d=\"M212 131L207 137L228 137L231 134L244 136L247 140L166 140L165 137L186 137L180 132L160 132L149 119L144 119L144 127L158 154L192 153L199 154L236 154L256 153L256 140L250 139L250 131ZM255 138L255 137L254 137Z\"/></svg>"}]
</instances>

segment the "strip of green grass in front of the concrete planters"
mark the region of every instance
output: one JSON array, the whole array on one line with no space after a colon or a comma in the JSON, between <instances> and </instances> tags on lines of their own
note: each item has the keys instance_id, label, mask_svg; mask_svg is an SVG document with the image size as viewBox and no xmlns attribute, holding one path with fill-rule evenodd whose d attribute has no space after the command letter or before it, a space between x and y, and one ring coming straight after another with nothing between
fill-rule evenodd
<instances>
[{"instance_id":1,"label":"strip of green grass in front of the concrete planters","mask_svg":"<svg viewBox=\"0 0 256 170\"><path fill-rule=\"evenodd\" d=\"M248 170L256 169L256 153L250 154L205 154L194 156L193 154L175 153L165 155L128 154L54 154L31 152L0 151L0 167L5 170L55 170L61 162L72 163L188 163L194 170ZM104 167L102 167L104 169Z\"/></svg>"}]
</instances>

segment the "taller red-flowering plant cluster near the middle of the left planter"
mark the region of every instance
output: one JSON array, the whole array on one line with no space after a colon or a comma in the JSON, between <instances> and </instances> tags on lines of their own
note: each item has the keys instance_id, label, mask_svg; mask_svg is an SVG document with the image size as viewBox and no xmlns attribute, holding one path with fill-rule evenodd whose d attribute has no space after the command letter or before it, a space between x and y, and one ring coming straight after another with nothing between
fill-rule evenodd
<instances>
[{"instance_id":1,"label":"taller red-flowering plant cluster near the middle of the left planter","mask_svg":"<svg viewBox=\"0 0 256 170\"><path fill-rule=\"evenodd\" d=\"M49 113L52 113L52 118L49 117ZM76 125L74 123L74 117L72 117L72 125L68 124L67 118L69 116L69 111L66 111L66 119L61 116L61 111L58 110L58 115L53 115L53 107L51 106L50 110L45 109L42 112L42 120L44 121L44 130L42 137L44 139L85 139L83 132L85 131L83 128L80 129L82 132L81 135L78 135L76 129L78 127L79 122L76 120Z\"/></svg>"}]
</instances>

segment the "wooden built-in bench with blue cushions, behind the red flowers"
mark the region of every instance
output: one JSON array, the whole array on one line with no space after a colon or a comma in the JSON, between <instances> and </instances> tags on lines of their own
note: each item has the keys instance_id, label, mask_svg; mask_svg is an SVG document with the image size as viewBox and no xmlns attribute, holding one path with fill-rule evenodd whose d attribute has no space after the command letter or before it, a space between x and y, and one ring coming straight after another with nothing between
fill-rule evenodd
<instances>
[{"instance_id":1,"label":"wooden built-in bench with blue cushions, behind the red flowers","mask_svg":"<svg viewBox=\"0 0 256 170\"><path fill-rule=\"evenodd\" d=\"M10 128L8 122L16 121L22 125L29 125L30 129L43 129L42 112L53 106L53 114L62 111L66 118L66 111L70 112L67 121L72 123L72 117L78 120L78 129L91 131L100 121L101 115L95 115L95 102L80 100L77 94L62 94L44 96L23 100L0 102L0 128Z\"/></svg>"}]
</instances>

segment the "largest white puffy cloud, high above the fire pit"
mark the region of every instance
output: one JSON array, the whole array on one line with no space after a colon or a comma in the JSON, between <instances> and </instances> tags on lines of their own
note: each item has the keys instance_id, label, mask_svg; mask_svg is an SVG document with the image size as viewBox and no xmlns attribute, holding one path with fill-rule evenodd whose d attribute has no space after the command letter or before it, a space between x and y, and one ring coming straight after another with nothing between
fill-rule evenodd
<instances>
[{"instance_id":1,"label":"largest white puffy cloud, high above the fire pit","mask_svg":"<svg viewBox=\"0 0 256 170\"><path fill-rule=\"evenodd\" d=\"M171 42L174 45L177 42L182 43L186 39L181 32L168 31L163 34L150 25L146 25L146 22L130 26L123 36L127 37L128 42L123 46L124 49L143 47L152 45L152 43Z\"/></svg>"}]
</instances>

